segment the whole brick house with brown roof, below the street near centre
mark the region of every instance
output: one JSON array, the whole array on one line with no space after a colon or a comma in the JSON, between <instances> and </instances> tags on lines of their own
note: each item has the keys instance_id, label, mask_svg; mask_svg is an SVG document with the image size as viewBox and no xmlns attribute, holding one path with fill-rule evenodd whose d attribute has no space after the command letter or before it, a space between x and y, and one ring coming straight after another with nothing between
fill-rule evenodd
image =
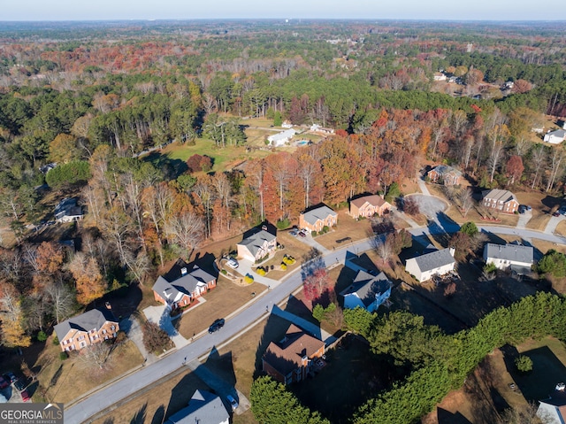
<instances>
[{"instance_id":1,"label":"whole brick house with brown roof, below the street near centre","mask_svg":"<svg viewBox=\"0 0 566 424\"><path fill-rule=\"evenodd\" d=\"M278 382L301 382L310 373L312 361L325 354L325 343L291 324L279 343L269 343L262 358L264 372Z\"/></svg>"}]
</instances>

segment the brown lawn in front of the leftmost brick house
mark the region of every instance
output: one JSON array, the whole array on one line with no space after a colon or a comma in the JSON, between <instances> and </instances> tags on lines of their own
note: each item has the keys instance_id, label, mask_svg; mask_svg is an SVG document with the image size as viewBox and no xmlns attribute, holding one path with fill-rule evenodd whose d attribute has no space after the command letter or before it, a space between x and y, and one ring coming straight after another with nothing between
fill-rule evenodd
<instances>
[{"instance_id":1,"label":"brown lawn in front of the leftmost brick house","mask_svg":"<svg viewBox=\"0 0 566 424\"><path fill-rule=\"evenodd\" d=\"M98 369L89 368L79 358L80 352L72 352L70 358L59 359L59 346L51 343L50 337L45 344L45 350L34 364L34 369L39 368L37 380L42 389L33 384L31 391L34 399L48 402L62 402L70 404L74 399L85 395L89 390L95 389L105 382L109 382L119 375L125 374L136 366L143 363L142 354L133 342L126 341L120 344L111 353L108 359L108 367L99 372ZM73 382L70 384L69 382Z\"/></svg>"}]
</instances>

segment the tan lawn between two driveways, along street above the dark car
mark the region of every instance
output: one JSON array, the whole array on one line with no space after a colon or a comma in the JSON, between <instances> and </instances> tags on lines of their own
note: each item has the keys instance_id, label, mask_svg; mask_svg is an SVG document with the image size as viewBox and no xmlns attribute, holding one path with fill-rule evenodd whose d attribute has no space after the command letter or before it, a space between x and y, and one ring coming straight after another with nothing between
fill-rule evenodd
<instances>
[{"instance_id":1,"label":"tan lawn between two driveways, along street above the dark car","mask_svg":"<svg viewBox=\"0 0 566 424\"><path fill-rule=\"evenodd\" d=\"M217 318L226 318L227 314L249 302L253 298L253 292L258 295L265 289L267 288L263 284L257 282L239 285L220 276L216 289L201 297L205 302L188 309L173 324L183 337L190 339L194 334L209 328Z\"/></svg>"}]
</instances>

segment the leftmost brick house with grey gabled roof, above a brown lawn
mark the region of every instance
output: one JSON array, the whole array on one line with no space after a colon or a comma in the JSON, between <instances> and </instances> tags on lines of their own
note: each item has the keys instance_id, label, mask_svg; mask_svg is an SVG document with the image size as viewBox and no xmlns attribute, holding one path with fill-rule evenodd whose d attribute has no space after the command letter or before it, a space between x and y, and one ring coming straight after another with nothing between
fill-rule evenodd
<instances>
[{"instance_id":1,"label":"leftmost brick house with grey gabled roof, above a brown lawn","mask_svg":"<svg viewBox=\"0 0 566 424\"><path fill-rule=\"evenodd\" d=\"M80 351L116 337L119 323L110 309L92 309L55 326L62 351Z\"/></svg>"}]
</instances>

